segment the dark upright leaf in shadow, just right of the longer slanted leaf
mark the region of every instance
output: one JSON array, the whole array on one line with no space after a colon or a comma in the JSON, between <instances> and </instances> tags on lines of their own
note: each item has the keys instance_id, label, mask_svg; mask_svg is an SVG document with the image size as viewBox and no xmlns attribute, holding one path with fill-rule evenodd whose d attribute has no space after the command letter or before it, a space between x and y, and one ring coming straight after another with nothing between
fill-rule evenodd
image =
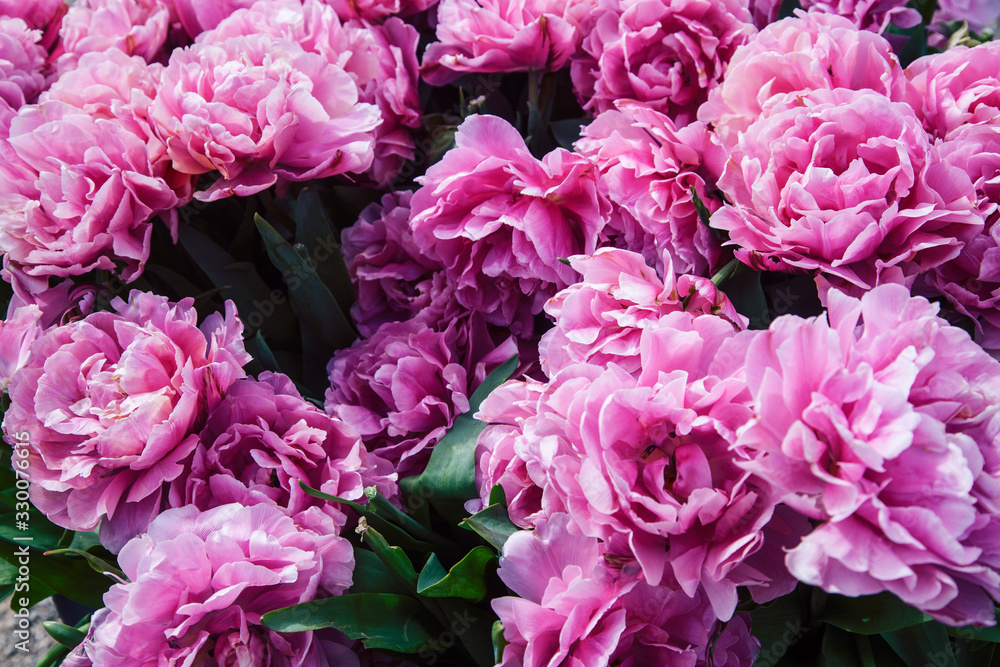
<instances>
[{"instance_id":1,"label":"dark upright leaf in shadow, just right of the longer slanted leaf","mask_svg":"<svg viewBox=\"0 0 1000 667\"><path fill-rule=\"evenodd\" d=\"M295 243L305 247L315 260L316 273L346 313L354 303L354 287L344 254L337 243L323 201L314 188L304 188L295 200Z\"/></svg>"}]
</instances>

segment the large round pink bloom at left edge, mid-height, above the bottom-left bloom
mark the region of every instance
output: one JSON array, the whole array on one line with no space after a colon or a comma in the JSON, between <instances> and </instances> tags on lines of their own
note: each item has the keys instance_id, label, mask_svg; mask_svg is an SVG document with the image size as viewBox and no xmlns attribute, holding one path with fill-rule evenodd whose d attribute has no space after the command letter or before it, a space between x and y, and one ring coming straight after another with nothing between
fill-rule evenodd
<instances>
[{"instance_id":1,"label":"large round pink bloom at left edge, mid-height, above the bottom-left bloom","mask_svg":"<svg viewBox=\"0 0 1000 667\"><path fill-rule=\"evenodd\" d=\"M29 436L32 500L70 530L103 517L115 530L158 503L250 359L232 304L200 329L192 299L134 291L112 305L46 332L10 385L4 428Z\"/></svg>"}]
</instances>

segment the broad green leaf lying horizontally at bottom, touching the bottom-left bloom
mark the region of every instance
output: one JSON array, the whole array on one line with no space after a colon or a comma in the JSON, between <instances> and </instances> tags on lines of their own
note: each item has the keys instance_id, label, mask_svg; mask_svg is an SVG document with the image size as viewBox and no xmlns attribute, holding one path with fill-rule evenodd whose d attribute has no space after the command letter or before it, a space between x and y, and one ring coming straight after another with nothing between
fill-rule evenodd
<instances>
[{"instance_id":1,"label":"broad green leaf lying horizontally at bottom, touching the bottom-left bloom","mask_svg":"<svg viewBox=\"0 0 1000 667\"><path fill-rule=\"evenodd\" d=\"M431 650L441 629L423 605L405 595L347 593L268 612L263 623L276 632L336 628L372 649L420 653Z\"/></svg>"}]
</instances>

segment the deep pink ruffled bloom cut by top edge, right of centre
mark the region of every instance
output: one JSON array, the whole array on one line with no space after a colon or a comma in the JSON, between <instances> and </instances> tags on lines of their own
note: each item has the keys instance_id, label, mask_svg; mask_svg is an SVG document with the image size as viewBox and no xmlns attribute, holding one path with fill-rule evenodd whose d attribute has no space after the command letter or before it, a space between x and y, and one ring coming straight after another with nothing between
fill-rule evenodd
<instances>
[{"instance_id":1,"label":"deep pink ruffled bloom cut by top edge, right of centre","mask_svg":"<svg viewBox=\"0 0 1000 667\"><path fill-rule=\"evenodd\" d=\"M604 0L587 26L572 67L584 108L600 113L638 100L680 126L757 32L740 0Z\"/></svg>"}]
</instances>

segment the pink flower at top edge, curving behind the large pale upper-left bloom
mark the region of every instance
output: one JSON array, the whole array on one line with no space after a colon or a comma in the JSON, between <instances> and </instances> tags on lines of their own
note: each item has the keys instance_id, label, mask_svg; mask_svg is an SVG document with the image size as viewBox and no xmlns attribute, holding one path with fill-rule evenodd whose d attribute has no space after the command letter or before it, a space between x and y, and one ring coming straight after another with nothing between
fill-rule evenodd
<instances>
[{"instance_id":1,"label":"pink flower at top edge, curving behind the large pale upper-left bloom","mask_svg":"<svg viewBox=\"0 0 1000 667\"><path fill-rule=\"evenodd\" d=\"M333 8L319 0L262 0L234 12L198 41L217 43L261 32L296 42L351 75L359 100L377 105L382 115L373 133L375 158L369 175L380 187L398 176L414 156L409 129L421 122L416 29L398 18L380 25L341 23Z\"/></svg>"}]
</instances>

